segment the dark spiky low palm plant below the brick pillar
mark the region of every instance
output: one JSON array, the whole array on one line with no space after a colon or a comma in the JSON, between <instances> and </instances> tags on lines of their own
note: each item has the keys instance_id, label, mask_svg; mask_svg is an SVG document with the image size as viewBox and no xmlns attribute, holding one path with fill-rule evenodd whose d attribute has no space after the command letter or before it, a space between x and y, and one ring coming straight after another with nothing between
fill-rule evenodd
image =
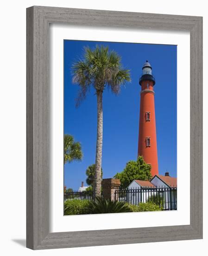
<instances>
[{"instance_id":1,"label":"dark spiky low palm plant below the brick pillar","mask_svg":"<svg viewBox=\"0 0 208 256\"><path fill-rule=\"evenodd\" d=\"M86 210L89 214L131 212L124 202L111 201L102 197L96 197L95 201L90 201Z\"/></svg>"}]
</instances>

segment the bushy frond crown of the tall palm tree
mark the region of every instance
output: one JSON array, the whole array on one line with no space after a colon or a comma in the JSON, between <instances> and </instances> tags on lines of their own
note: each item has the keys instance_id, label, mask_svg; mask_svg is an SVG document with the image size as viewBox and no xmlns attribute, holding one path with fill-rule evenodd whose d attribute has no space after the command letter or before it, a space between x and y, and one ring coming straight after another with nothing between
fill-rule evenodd
<instances>
[{"instance_id":1,"label":"bushy frond crown of the tall palm tree","mask_svg":"<svg viewBox=\"0 0 208 256\"><path fill-rule=\"evenodd\" d=\"M109 51L108 47L98 45L95 49L84 48L83 59L73 64L72 73L73 82L80 86L77 107L86 98L90 86L101 92L107 86L114 94L118 94L120 86L131 81L129 70L121 65L121 57Z\"/></svg>"}]
</instances>

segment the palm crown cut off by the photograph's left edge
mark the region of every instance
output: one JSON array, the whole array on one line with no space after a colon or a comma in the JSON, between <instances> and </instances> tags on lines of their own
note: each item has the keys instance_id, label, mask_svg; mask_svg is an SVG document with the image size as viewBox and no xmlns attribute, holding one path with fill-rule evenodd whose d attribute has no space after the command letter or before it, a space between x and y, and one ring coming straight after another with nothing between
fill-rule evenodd
<instances>
[{"instance_id":1,"label":"palm crown cut off by the photograph's left edge","mask_svg":"<svg viewBox=\"0 0 208 256\"><path fill-rule=\"evenodd\" d=\"M82 160L82 147L80 142L75 142L72 135L64 135L64 164Z\"/></svg>"}]
</instances>

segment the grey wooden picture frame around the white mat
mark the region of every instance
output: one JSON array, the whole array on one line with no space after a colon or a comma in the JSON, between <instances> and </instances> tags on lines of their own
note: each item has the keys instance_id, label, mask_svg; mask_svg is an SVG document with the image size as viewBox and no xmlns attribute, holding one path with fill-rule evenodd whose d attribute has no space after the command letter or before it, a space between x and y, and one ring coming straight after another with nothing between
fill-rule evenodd
<instances>
[{"instance_id":1,"label":"grey wooden picture frame around the white mat","mask_svg":"<svg viewBox=\"0 0 208 256\"><path fill-rule=\"evenodd\" d=\"M190 32L190 225L49 233L49 24ZM202 238L202 17L27 8L27 236L31 249Z\"/></svg>"}]
</instances>

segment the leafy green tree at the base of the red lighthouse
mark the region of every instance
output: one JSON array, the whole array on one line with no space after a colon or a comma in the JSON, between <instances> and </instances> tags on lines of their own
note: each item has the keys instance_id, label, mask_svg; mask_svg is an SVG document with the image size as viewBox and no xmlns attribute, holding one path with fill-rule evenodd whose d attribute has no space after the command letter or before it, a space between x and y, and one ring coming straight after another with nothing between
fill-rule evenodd
<instances>
[{"instance_id":1,"label":"leafy green tree at the base of the red lighthouse","mask_svg":"<svg viewBox=\"0 0 208 256\"><path fill-rule=\"evenodd\" d=\"M149 181L151 179L151 165L146 164L143 157L139 156L137 161L127 162L126 168L117 173L114 178L120 179L123 188L126 188L133 180Z\"/></svg>"}]
</instances>

